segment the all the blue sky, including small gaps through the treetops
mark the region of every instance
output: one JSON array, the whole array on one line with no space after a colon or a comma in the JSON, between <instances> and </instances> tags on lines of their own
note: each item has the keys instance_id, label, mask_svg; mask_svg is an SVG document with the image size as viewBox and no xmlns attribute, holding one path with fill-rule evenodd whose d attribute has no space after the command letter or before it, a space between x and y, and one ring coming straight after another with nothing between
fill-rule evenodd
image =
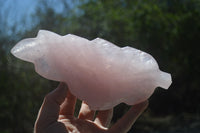
<instances>
[{"instance_id":1,"label":"all the blue sky, including small gaps through the treetops","mask_svg":"<svg viewBox=\"0 0 200 133\"><path fill-rule=\"evenodd\" d=\"M0 15L4 19L4 22L7 23L8 27L15 26L17 31L25 30L34 25L32 21L34 19L33 14L42 1L43 0L0 0ZM62 2L61 0L47 0L47 3L52 4L56 12L60 12L63 6L59 1ZM73 0L66 1L72 5L71 1ZM12 30L9 31L8 29L6 31L8 31L8 34L12 34Z\"/></svg>"}]
</instances>

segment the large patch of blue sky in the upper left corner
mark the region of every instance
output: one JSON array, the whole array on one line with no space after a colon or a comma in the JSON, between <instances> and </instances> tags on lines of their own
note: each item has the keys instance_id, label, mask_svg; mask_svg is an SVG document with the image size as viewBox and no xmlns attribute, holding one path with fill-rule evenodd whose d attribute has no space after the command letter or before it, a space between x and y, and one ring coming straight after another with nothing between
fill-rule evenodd
<instances>
[{"instance_id":1,"label":"large patch of blue sky in the upper left corner","mask_svg":"<svg viewBox=\"0 0 200 133\"><path fill-rule=\"evenodd\" d=\"M0 21L5 22L8 29L13 25L16 26L16 30L25 29L27 27L21 20L30 23L31 14L35 12L36 6L37 0L0 0L0 13L3 19Z\"/></svg>"}]
</instances>

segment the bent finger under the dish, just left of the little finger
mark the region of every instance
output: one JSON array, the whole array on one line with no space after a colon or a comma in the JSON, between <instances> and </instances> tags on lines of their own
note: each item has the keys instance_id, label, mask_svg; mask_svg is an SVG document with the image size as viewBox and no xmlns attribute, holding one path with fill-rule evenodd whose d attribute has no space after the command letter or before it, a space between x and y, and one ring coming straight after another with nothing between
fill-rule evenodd
<instances>
[{"instance_id":1,"label":"bent finger under the dish, just left of the little finger","mask_svg":"<svg viewBox=\"0 0 200 133\"><path fill-rule=\"evenodd\" d=\"M97 125L108 127L113 116L113 109L99 111L94 122Z\"/></svg>"}]
</instances>

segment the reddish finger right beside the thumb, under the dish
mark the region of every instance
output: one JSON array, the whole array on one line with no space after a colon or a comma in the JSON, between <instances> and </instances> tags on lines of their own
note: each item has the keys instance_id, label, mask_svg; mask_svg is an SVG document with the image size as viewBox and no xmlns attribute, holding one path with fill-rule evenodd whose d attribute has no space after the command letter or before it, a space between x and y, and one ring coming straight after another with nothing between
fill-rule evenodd
<instances>
[{"instance_id":1,"label":"reddish finger right beside the thumb, under the dish","mask_svg":"<svg viewBox=\"0 0 200 133\"><path fill-rule=\"evenodd\" d=\"M60 106L60 115L64 118L72 117L76 106L76 97L69 91L67 91L67 97Z\"/></svg>"}]
</instances>

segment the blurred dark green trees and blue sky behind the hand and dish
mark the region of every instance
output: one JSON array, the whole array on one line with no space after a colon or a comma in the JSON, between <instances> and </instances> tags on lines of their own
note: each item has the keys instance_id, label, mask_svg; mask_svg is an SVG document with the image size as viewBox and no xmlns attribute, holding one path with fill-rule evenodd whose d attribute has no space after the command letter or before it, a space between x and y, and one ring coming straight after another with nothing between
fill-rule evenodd
<instances>
[{"instance_id":1,"label":"blurred dark green trees and blue sky behind the hand and dish","mask_svg":"<svg viewBox=\"0 0 200 133\"><path fill-rule=\"evenodd\" d=\"M39 29L150 53L173 83L155 90L129 132L200 132L200 0L0 0L0 133L32 132L44 96L58 84L10 54ZM112 122L128 109L116 106Z\"/></svg>"}]
</instances>

